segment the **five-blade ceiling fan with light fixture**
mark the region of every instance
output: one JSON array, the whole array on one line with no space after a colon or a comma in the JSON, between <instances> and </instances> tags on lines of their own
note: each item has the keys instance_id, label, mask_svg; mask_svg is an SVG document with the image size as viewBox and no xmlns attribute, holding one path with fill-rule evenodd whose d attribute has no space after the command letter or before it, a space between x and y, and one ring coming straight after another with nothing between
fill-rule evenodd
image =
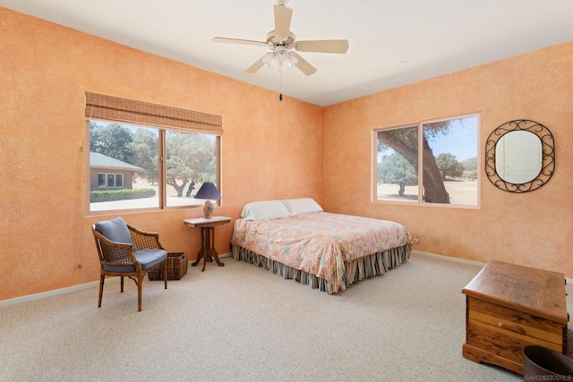
<instances>
[{"instance_id":1,"label":"five-blade ceiling fan with light fixture","mask_svg":"<svg viewBox=\"0 0 573 382\"><path fill-rule=\"evenodd\" d=\"M264 64L267 64L278 71L295 65L308 76L316 72L316 68L296 52L346 53L348 50L348 40L346 39L297 41L295 34L290 31L293 10L285 5L287 2L288 0L278 0L278 4L274 5L275 30L267 33L265 41L215 37L213 42L269 47L271 52L263 55L244 71L248 74L257 72Z\"/></svg>"}]
</instances>

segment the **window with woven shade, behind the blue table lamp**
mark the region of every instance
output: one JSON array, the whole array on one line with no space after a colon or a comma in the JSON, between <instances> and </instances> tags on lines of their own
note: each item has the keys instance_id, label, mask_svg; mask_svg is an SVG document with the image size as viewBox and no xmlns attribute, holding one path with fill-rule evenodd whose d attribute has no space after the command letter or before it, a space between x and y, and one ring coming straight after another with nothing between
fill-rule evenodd
<instances>
[{"instance_id":1,"label":"window with woven shade, behind the blue table lamp","mask_svg":"<svg viewBox=\"0 0 573 382\"><path fill-rule=\"evenodd\" d=\"M90 211L202 207L202 183L220 190L220 117L94 93L86 117Z\"/></svg>"}]
</instances>

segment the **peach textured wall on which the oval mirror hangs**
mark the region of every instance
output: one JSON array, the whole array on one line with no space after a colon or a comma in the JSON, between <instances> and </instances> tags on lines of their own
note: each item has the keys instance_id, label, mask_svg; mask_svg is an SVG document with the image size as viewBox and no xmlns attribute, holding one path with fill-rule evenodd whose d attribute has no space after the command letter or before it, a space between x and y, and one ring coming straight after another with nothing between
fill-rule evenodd
<instances>
[{"instance_id":1,"label":"peach textured wall on which the oval mirror hangs","mask_svg":"<svg viewBox=\"0 0 573 382\"><path fill-rule=\"evenodd\" d=\"M373 204L372 129L481 113L481 208ZM483 172L485 140L513 119L532 119L555 138L556 170L541 189L500 191ZM396 220L416 250L514 262L573 277L573 42L329 106L324 111L324 207Z\"/></svg>"}]
</instances>

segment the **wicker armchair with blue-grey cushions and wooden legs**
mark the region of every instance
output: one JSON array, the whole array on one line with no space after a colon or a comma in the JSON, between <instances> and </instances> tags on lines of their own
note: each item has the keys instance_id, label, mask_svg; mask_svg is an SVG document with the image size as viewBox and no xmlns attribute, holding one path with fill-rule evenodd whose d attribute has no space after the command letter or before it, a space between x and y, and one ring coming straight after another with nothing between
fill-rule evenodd
<instances>
[{"instance_id":1,"label":"wicker armchair with blue-grey cushions and wooden legs","mask_svg":"<svg viewBox=\"0 0 573 382\"><path fill-rule=\"evenodd\" d=\"M167 250L164 250L159 242L158 233L139 231L126 224L121 217L97 222L93 225L92 231L101 264L98 308L101 307L106 276L121 277L122 293L124 293L124 276L135 282L138 311L141 311L143 276L162 264L163 279L167 289Z\"/></svg>"}]
</instances>

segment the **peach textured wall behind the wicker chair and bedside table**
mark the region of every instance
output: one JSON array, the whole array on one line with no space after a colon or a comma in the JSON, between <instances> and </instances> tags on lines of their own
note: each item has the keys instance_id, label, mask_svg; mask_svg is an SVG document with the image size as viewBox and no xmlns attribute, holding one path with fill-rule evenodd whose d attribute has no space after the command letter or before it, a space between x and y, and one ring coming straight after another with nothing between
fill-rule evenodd
<instances>
[{"instance_id":1,"label":"peach textured wall behind the wicker chair and bedside table","mask_svg":"<svg viewBox=\"0 0 573 382\"><path fill-rule=\"evenodd\" d=\"M322 198L322 109L0 7L0 301L98 280L87 213L86 90L222 115L223 205ZM122 214L193 259L201 209ZM229 251L232 225L216 230Z\"/></svg>"}]
</instances>

